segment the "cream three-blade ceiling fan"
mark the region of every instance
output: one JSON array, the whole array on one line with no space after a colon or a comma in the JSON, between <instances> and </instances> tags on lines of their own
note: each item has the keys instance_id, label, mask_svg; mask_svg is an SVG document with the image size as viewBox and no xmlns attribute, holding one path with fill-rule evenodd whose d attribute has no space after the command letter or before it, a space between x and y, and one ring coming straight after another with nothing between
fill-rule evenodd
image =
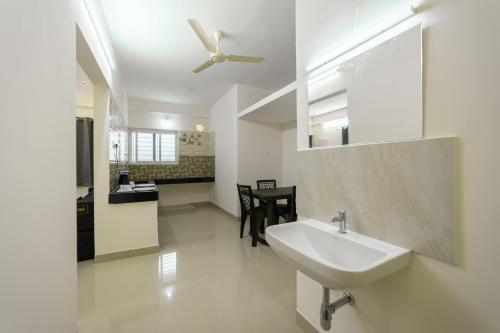
<instances>
[{"instance_id":1,"label":"cream three-blade ceiling fan","mask_svg":"<svg viewBox=\"0 0 500 333\"><path fill-rule=\"evenodd\" d=\"M250 62L250 63L261 63L264 61L264 58L261 57L249 57L249 56L242 56L242 55L225 55L222 53L219 47L219 42L221 39L224 37L224 33L222 31L214 31L214 37L215 41L217 44L214 46L214 44L210 41L208 38L207 34L201 27L200 23L194 19L188 19L188 23L193 28L194 32L196 35L198 35L198 38L200 38L200 41L203 43L207 51L210 52L210 58L208 61L203 63L201 66L195 68L193 70L193 73L199 73L208 67L212 66L213 64L217 63L223 63L226 61L234 61L234 62Z\"/></svg>"}]
</instances>

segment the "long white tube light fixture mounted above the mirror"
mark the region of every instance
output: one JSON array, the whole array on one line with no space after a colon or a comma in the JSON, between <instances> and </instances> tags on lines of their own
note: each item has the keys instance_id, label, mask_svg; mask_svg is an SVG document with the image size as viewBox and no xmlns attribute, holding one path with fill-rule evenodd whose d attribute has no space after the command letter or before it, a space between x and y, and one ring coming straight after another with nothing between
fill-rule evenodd
<instances>
[{"instance_id":1,"label":"long white tube light fixture mounted above the mirror","mask_svg":"<svg viewBox=\"0 0 500 333\"><path fill-rule=\"evenodd\" d=\"M364 37L359 37L354 41L346 43L347 46L343 48L343 51L320 60L318 63L307 68L310 80L322 76L325 72L335 69L340 64L415 26L413 22L409 22L409 19L415 16L415 14L417 14L416 7L409 6L404 11L394 15L392 19L385 20L383 24L379 25L378 29L373 29L371 32L366 33ZM402 23L410 23L411 25ZM334 73L337 71L334 70Z\"/></svg>"}]
</instances>

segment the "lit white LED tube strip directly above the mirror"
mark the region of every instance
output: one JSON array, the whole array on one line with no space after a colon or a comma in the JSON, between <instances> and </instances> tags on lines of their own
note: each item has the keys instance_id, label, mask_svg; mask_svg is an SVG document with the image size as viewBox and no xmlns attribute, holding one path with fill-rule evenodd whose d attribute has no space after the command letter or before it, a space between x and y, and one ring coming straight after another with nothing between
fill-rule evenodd
<instances>
[{"instance_id":1,"label":"lit white LED tube strip directly above the mirror","mask_svg":"<svg viewBox=\"0 0 500 333\"><path fill-rule=\"evenodd\" d=\"M397 36L403 31L408 30L410 27L402 25L403 22L408 21L411 17L417 14L415 7L410 6L408 11L402 13L395 20L394 23L382 28L377 33L369 36L368 38L362 39L361 42L355 43L353 46L348 47L345 51L338 53L328 60L321 61L320 63L307 68L309 72L309 84L316 83L322 79L339 72L338 66L355 56L382 44L383 42ZM415 26L415 25L413 25Z\"/></svg>"}]
</instances>

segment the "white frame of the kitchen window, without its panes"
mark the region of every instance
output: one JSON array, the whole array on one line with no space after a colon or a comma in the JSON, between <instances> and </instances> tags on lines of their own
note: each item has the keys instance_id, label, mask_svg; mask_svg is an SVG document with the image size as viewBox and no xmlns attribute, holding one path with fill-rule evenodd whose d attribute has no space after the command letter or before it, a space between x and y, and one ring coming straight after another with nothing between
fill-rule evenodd
<instances>
[{"instance_id":1,"label":"white frame of the kitchen window, without its panes","mask_svg":"<svg viewBox=\"0 0 500 333\"><path fill-rule=\"evenodd\" d=\"M137 136L136 142L132 140L132 133L151 133L153 134L153 161L137 161ZM157 136L155 134L173 134L175 136L175 161L157 161ZM135 165L176 165L179 164L179 131L151 128L129 128L128 129L128 156L129 164ZM161 140L160 140L161 141ZM160 143L161 144L161 143ZM135 146L135 151L133 151ZM161 147L159 148L161 149Z\"/></svg>"}]
</instances>

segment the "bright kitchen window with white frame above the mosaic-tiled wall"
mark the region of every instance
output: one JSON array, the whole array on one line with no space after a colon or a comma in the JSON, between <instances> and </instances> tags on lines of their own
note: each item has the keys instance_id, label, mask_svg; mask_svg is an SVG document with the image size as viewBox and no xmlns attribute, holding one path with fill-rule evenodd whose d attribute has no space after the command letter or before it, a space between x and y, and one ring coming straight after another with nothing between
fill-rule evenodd
<instances>
[{"instance_id":1,"label":"bright kitchen window with white frame above the mosaic-tiled wall","mask_svg":"<svg viewBox=\"0 0 500 333\"><path fill-rule=\"evenodd\" d=\"M130 130L129 156L131 163L177 163L177 131Z\"/></svg>"}]
</instances>

